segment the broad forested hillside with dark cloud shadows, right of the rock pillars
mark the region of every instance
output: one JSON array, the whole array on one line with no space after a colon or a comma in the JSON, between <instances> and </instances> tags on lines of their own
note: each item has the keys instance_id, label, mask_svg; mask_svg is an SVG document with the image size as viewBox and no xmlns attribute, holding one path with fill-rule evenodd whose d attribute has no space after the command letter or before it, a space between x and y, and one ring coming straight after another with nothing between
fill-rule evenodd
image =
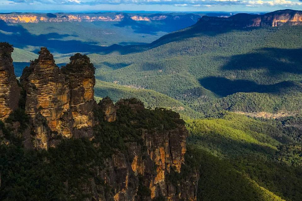
<instances>
[{"instance_id":1,"label":"broad forested hillside with dark cloud shadows, right of the rock pillars","mask_svg":"<svg viewBox=\"0 0 302 201\"><path fill-rule=\"evenodd\" d=\"M299 113L302 26L291 24L292 13L299 14L260 16L288 17L274 27L213 26L210 19L219 18L204 17L209 20L148 45L89 56L97 79L155 90L205 115L221 109Z\"/></svg>"}]
</instances>

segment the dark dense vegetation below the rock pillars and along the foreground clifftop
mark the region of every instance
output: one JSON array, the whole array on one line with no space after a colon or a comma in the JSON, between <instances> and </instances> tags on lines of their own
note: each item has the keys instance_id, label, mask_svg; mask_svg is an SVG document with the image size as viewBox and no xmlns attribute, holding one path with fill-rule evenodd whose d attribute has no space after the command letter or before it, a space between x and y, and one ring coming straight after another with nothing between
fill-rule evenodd
<instances>
[{"instance_id":1,"label":"dark dense vegetation below the rock pillars and along the foreground clifftop","mask_svg":"<svg viewBox=\"0 0 302 201\"><path fill-rule=\"evenodd\" d=\"M115 122L105 122L98 108L95 116L100 123L93 139L62 139L48 150L24 149L23 139L14 134L14 122L25 129L29 124L24 110L12 113L6 120L8 126L0 122L0 200L90 200L87 186L93 182L112 197L112 188L96 173L106 168L104 160L114 153L126 153L126 143L143 146L140 129L169 130L183 123L176 112L159 108L134 111L123 105Z\"/></svg>"}]
</instances>

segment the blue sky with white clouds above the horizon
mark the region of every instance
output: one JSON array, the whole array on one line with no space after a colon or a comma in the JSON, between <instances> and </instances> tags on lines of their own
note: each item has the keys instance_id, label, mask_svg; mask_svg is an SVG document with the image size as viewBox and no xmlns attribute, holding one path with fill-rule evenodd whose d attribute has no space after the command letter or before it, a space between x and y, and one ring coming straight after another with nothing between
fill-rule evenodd
<instances>
[{"instance_id":1,"label":"blue sky with white clouds above the horizon","mask_svg":"<svg viewBox=\"0 0 302 201\"><path fill-rule=\"evenodd\" d=\"M302 0L0 0L5 11L273 11L302 10Z\"/></svg>"}]
</instances>

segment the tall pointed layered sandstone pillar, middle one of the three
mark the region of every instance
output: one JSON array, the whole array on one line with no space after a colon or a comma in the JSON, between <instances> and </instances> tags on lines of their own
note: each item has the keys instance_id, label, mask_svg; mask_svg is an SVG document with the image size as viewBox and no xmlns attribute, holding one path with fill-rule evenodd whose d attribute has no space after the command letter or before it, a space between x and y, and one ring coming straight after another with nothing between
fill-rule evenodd
<instances>
[{"instance_id":1,"label":"tall pointed layered sandstone pillar, middle one of the three","mask_svg":"<svg viewBox=\"0 0 302 201\"><path fill-rule=\"evenodd\" d=\"M25 112L33 120L33 131L39 146L47 148L49 131L71 136L70 90L65 75L56 66L53 55L42 47L39 58L26 67L20 78L26 91ZM46 124L43 122L45 118Z\"/></svg>"}]
</instances>

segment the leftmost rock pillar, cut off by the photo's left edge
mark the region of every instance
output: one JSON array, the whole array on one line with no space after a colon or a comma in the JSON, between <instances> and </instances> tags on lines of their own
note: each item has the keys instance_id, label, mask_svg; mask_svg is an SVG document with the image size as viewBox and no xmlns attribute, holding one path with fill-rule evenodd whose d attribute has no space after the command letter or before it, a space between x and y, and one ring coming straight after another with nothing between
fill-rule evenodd
<instances>
[{"instance_id":1,"label":"leftmost rock pillar, cut off by the photo's left edge","mask_svg":"<svg viewBox=\"0 0 302 201\"><path fill-rule=\"evenodd\" d=\"M14 73L13 59L14 48L8 43L0 43L0 120L18 109L20 87Z\"/></svg>"}]
</instances>

